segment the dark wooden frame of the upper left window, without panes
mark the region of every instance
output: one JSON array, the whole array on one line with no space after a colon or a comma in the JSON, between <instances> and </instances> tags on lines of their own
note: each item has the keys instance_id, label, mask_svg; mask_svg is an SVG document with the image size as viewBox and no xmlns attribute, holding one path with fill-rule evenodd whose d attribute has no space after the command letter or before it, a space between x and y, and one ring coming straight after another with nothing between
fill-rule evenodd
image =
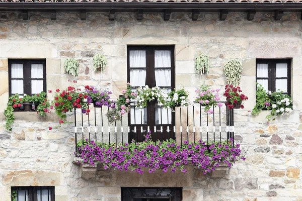
<instances>
[{"instance_id":1,"label":"dark wooden frame of the upper left window, without panes","mask_svg":"<svg viewBox=\"0 0 302 201\"><path fill-rule=\"evenodd\" d=\"M12 64L23 64L23 78L12 78ZM43 65L43 78L31 78L31 64ZM46 92L46 60L45 59L9 59L9 90L12 93L12 79L23 80L23 94L34 95L31 91L31 80L43 80L43 91ZM19 94L19 95L23 95Z\"/></svg>"}]
</instances>

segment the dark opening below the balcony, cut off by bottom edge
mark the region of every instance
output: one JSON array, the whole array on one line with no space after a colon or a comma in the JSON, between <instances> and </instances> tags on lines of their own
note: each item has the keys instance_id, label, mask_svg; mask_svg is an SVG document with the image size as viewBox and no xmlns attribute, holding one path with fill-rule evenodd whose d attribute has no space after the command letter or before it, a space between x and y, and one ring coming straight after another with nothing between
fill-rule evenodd
<instances>
[{"instance_id":1,"label":"dark opening below the balcony, cut off by bottom edge","mask_svg":"<svg viewBox=\"0 0 302 201\"><path fill-rule=\"evenodd\" d=\"M182 188L122 187L122 201L180 201Z\"/></svg>"}]
</instances>

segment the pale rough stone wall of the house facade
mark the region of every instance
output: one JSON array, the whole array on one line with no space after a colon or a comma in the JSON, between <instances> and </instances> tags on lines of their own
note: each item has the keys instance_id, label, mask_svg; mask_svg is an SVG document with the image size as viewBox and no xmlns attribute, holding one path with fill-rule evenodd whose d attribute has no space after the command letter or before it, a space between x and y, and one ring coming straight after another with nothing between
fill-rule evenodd
<instances>
[{"instance_id":1,"label":"pale rough stone wall of the house facade","mask_svg":"<svg viewBox=\"0 0 302 201\"><path fill-rule=\"evenodd\" d=\"M223 179L213 179L197 170L187 174L162 173L134 175L129 172L97 171L96 178L80 178L74 165L74 134L62 127L48 131L55 121L33 114L16 114L12 132L0 122L0 194L10 200L10 186L55 185L58 200L120 200L120 186L181 186L184 200L302 200L302 116L301 105L287 118L267 124L263 111L253 117L255 104L256 58L292 58L291 94L301 97L301 26L299 13L284 13L280 21L273 13L257 13L253 21L246 13L230 13L219 21L217 13L201 13L191 21L189 13L172 13L170 21L162 14L144 14L136 21L133 13L117 14L109 21L107 13L0 14L0 111L8 99L8 58L45 58L47 88L65 87L72 76L64 74L68 57L80 59L78 85L103 86L117 97L127 82L127 45L175 45L176 85L194 91L201 83L223 88L222 66L229 59L243 62L241 86L249 96L244 110L235 114L236 140L242 144L245 162L238 162ZM210 73L194 73L194 57L202 51L210 57ZM92 70L92 56L105 54L104 74ZM194 96L191 93L191 96ZM24 115L25 114L25 115ZM161 180L160 178L166 178ZM179 178L182 178L179 180ZM129 182L128 182L129 181ZM4 198L3 198L4 197Z\"/></svg>"}]
</instances>

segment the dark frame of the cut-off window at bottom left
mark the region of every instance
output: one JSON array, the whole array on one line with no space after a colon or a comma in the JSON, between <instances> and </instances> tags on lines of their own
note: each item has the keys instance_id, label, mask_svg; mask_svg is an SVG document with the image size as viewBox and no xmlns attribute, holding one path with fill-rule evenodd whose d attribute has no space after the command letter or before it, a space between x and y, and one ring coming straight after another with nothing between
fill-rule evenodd
<instances>
[{"instance_id":1,"label":"dark frame of the cut-off window at bottom left","mask_svg":"<svg viewBox=\"0 0 302 201\"><path fill-rule=\"evenodd\" d=\"M38 190L47 189L48 193L51 195L49 201L55 201L54 197L54 186L12 186L12 191L17 190L17 201L18 201L18 190L28 190L28 199L26 201L37 201L38 200ZM41 193L42 195L42 193ZM12 199L13 200L13 199Z\"/></svg>"}]
</instances>

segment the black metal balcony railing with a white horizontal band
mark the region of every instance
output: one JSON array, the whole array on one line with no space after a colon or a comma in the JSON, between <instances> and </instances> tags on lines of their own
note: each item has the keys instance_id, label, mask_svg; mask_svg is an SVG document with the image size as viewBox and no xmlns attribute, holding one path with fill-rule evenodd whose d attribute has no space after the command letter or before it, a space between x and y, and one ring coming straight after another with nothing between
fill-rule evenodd
<instances>
[{"instance_id":1,"label":"black metal balcony railing with a white horizontal band","mask_svg":"<svg viewBox=\"0 0 302 201\"><path fill-rule=\"evenodd\" d=\"M212 114L204 112L204 107L199 103L175 108L173 113L175 113L174 125L176 126L173 126L173 128L169 124L157 124L154 128L147 125L130 128L131 125L128 125L127 115L121 116L120 121L110 124L106 117L106 111L108 110L107 107L94 108L88 115L85 115L81 113L80 109L74 109L75 152L78 152L78 143L84 144L86 141L93 140L102 144L109 143L112 146L117 146L118 143L130 143L132 141L128 138L130 134L133 136L133 140L137 141L138 136L141 138L149 131L152 132L152 136L155 136L155 138L152 138L154 141L171 138L180 145L184 141L196 143L202 140L209 146L210 142L234 139L234 110L229 109L224 104L222 107L212 107ZM134 107L134 110L140 109ZM160 110L165 109L160 107ZM142 122L142 113L140 114L140 122ZM169 119L168 113L167 119ZM164 135L165 132L166 135Z\"/></svg>"}]
</instances>

